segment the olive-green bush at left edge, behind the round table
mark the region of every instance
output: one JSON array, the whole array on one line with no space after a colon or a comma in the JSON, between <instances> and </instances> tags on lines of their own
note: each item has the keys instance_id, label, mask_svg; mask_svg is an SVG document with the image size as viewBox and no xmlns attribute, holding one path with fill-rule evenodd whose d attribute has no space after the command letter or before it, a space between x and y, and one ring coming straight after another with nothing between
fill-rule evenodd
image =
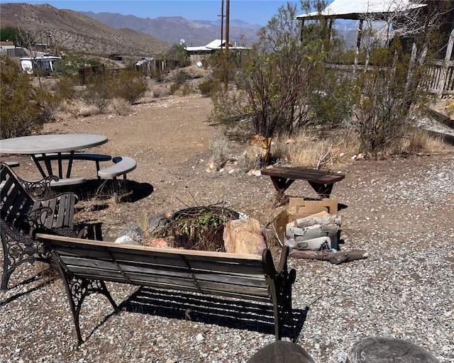
<instances>
[{"instance_id":1,"label":"olive-green bush at left edge, behind the round table","mask_svg":"<svg viewBox=\"0 0 454 363\"><path fill-rule=\"evenodd\" d=\"M31 135L51 121L60 99L31 84L31 76L21 72L9 57L0 57L0 138Z\"/></svg>"}]
</instances>

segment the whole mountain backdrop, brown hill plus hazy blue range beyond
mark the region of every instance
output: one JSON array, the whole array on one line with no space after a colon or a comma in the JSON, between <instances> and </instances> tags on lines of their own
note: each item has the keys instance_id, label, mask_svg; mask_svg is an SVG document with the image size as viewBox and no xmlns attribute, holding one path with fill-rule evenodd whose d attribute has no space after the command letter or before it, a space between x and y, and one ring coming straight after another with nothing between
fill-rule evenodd
<instances>
[{"instance_id":1,"label":"whole mountain backdrop, brown hill plus hazy blue range beyond","mask_svg":"<svg viewBox=\"0 0 454 363\"><path fill-rule=\"evenodd\" d=\"M217 21L188 21L177 17L138 18L118 13L99 13L57 9L49 4L0 4L1 27L21 28L35 37L50 41L55 53L70 52L108 56L156 56L181 39L187 45L206 45L220 38ZM96 18L94 16L96 15ZM103 21L99 20L101 18ZM115 23L115 26L111 26ZM240 24L236 27L234 24ZM232 21L231 43L255 41L259 26ZM243 34L245 35L243 37Z\"/></svg>"}]
</instances>

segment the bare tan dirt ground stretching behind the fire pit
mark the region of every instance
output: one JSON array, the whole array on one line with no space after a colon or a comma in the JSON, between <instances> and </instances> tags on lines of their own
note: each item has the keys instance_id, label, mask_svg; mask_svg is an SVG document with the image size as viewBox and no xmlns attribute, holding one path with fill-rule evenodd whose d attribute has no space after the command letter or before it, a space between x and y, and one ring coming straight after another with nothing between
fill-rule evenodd
<instances>
[{"instance_id":1,"label":"bare tan dirt ground stretching behind the fire pit","mask_svg":"<svg viewBox=\"0 0 454 363\"><path fill-rule=\"evenodd\" d=\"M45 125L43 133L92 133L106 135L108 143L87 151L114 156L133 157L137 168L128 174L133 197L116 204L101 192L99 197L77 204L76 220L80 223L101 223L104 240L115 240L119 231L131 223L144 232L148 217L172 213L187 206L221 204L248 214L267 225L279 213L272 205L275 189L269 177L250 176L248 169L233 165L221 171L206 172L212 155L210 143L223 138L221 128L210 125L207 118L211 100L197 94L145 99L134 105L127 116L102 114L86 118L70 117ZM233 159L238 159L248 145L229 141ZM451 159L453 148L438 155L395 157L381 161L355 161L345 155L343 164L333 167L346 174L334 186L332 196L354 191L355 184L369 178L370 183L382 179L392 182L405 167L424 168L445 157ZM40 179L28 157L4 155L2 160L18 160L16 172L23 179ZM111 162L101 164L110 166ZM74 177L96 179L93 162L74 162ZM316 196L307 183L294 183L288 194ZM355 203L354 199L351 203ZM350 203L350 204L351 204ZM392 211L391 211L392 213Z\"/></svg>"}]
</instances>

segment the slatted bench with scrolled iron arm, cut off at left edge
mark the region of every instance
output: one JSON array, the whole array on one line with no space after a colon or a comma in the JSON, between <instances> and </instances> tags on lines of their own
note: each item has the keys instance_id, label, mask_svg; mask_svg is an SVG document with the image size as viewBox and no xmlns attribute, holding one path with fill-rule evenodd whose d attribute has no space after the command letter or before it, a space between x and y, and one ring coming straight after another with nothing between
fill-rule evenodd
<instances>
[{"instance_id":1,"label":"slatted bench with scrolled iron arm, cut off at left edge","mask_svg":"<svg viewBox=\"0 0 454 363\"><path fill-rule=\"evenodd\" d=\"M20 264L50 262L43 244L31 237L33 229L77 235L74 231L77 196L53 191L50 182L56 179L52 176L40 181L25 181L7 164L0 163L0 235L4 253L1 290L8 288L11 274Z\"/></svg>"}]
</instances>

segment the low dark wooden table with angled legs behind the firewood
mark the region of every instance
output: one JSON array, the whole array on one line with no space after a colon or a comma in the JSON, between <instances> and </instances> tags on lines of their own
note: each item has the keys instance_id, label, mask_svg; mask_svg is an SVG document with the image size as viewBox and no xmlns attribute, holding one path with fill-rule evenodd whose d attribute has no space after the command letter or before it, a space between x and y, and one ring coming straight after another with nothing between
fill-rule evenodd
<instances>
[{"instance_id":1,"label":"low dark wooden table with angled legs behind the firewood","mask_svg":"<svg viewBox=\"0 0 454 363\"><path fill-rule=\"evenodd\" d=\"M271 177L276 189L276 205L282 203L285 191L297 179L306 180L314 188L320 198L329 198L333 186L345 178L345 174L337 174L328 170L316 170L310 167L272 167L262 169L262 175Z\"/></svg>"}]
</instances>

